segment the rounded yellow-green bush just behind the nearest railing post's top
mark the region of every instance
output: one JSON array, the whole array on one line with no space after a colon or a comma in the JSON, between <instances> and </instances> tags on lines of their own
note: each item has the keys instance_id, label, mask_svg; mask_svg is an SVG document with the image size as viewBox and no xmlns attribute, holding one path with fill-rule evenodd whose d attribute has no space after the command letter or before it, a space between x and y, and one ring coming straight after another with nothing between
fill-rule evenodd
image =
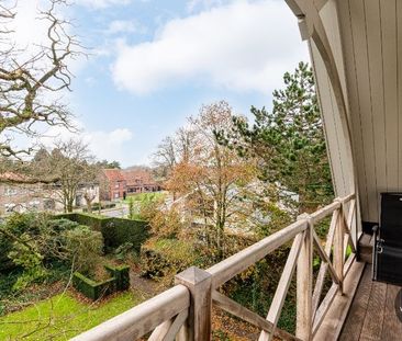
<instances>
[{"instance_id":1,"label":"rounded yellow-green bush just behind the nearest railing post's top","mask_svg":"<svg viewBox=\"0 0 402 341\"><path fill-rule=\"evenodd\" d=\"M192 245L177 239L149 239L141 248L142 275L168 279L194 265Z\"/></svg>"}]
</instances>

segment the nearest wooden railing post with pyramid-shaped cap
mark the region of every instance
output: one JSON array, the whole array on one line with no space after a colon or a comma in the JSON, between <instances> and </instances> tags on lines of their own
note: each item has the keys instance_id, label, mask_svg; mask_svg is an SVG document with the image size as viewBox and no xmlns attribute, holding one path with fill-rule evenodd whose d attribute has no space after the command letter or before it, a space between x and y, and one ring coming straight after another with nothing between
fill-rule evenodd
<instances>
[{"instance_id":1,"label":"nearest wooden railing post with pyramid-shaped cap","mask_svg":"<svg viewBox=\"0 0 402 341\"><path fill-rule=\"evenodd\" d=\"M189 341L211 340L212 275L204 270L191 266L175 277L176 284L187 286L190 292L190 308L187 319L187 336L181 331L180 339ZM180 340L180 341L181 341Z\"/></svg>"}]
</instances>

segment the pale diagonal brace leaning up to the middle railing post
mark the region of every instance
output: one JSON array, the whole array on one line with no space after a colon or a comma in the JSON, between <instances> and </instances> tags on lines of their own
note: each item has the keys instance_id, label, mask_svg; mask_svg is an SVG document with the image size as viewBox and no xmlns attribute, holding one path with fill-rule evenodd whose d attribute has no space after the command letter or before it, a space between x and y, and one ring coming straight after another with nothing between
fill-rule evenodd
<instances>
[{"instance_id":1,"label":"pale diagonal brace leaning up to the middle railing post","mask_svg":"<svg viewBox=\"0 0 402 341\"><path fill-rule=\"evenodd\" d=\"M282 275L280 276L277 291L275 293L273 299L271 302L271 306L269 307L269 311L267 315L267 320L272 323L272 329L277 328L277 323L280 317L280 312L282 311L282 307L284 304L284 298L288 294L288 289L290 283L292 281L295 263L299 257L300 248L304 238L304 232L300 232L295 236L293 240L293 245L290 249L287 262L284 264ZM271 341L273 337L273 332L261 331L258 341Z\"/></svg>"}]
</instances>

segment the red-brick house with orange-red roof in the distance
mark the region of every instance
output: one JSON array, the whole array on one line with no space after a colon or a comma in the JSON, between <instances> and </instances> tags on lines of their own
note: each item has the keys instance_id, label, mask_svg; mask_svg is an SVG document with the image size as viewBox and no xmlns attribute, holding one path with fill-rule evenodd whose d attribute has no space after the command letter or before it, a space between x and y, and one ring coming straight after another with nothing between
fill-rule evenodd
<instances>
[{"instance_id":1,"label":"red-brick house with orange-red roof in the distance","mask_svg":"<svg viewBox=\"0 0 402 341\"><path fill-rule=\"evenodd\" d=\"M160 185L145 170L103 169L107 181L102 198L119 200L137 193L150 193L161 190Z\"/></svg>"}]
</instances>

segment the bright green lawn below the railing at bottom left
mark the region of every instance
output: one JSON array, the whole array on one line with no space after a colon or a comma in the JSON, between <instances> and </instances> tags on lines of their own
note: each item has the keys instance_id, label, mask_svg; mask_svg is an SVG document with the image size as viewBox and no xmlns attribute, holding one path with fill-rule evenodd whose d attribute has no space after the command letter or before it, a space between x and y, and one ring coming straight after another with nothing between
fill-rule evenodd
<instances>
[{"instance_id":1,"label":"bright green lawn below the railing at bottom left","mask_svg":"<svg viewBox=\"0 0 402 341\"><path fill-rule=\"evenodd\" d=\"M0 318L0 340L68 340L139 303L131 292L98 306L57 295Z\"/></svg>"}]
</instances>

